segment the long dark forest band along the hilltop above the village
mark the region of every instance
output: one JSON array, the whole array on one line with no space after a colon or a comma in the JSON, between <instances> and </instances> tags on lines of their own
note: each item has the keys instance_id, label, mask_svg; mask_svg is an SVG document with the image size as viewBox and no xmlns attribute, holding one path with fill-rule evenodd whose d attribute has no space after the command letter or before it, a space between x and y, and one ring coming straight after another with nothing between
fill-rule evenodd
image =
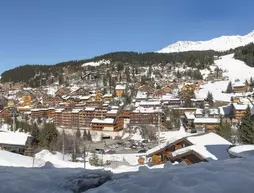
<instances>
[{"instance_id":1,"label":"long dark forest band along the hilltop above the village","mask_svg":"<svg viewBox=\"0 0 254 193\"><path fill-rule=\"evenodd\" d=\"M214 51L182 52L182 53L137 53L137 52L114 52L88 60L68 61L56 65L25 65L8 70L2 74L2 82L24 82L29 86L36 87L41 80L49 77L58 78L67 70L68 73L80 71L82 64L109 60L111 64L123 64L132 66L166 65L168 63L204 69L214 63Z\"/></svg>"}]
</instances>

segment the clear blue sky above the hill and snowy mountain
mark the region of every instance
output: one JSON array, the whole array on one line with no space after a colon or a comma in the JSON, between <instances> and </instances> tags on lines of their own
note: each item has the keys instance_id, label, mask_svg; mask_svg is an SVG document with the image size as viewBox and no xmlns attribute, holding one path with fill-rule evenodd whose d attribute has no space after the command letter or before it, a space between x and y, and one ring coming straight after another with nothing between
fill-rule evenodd
<instances>
[{"instance_id":1,"label":"clear blue sky above the hill and snowy mountain","mask_svg":"<svg viewBox=\"0 0 254 193\"><path fill-rule=\"evenodd\" d=\"M0 73L178 40L254 30L252 0L8 0L0 2Z\"/></svg>"}]
</instances>

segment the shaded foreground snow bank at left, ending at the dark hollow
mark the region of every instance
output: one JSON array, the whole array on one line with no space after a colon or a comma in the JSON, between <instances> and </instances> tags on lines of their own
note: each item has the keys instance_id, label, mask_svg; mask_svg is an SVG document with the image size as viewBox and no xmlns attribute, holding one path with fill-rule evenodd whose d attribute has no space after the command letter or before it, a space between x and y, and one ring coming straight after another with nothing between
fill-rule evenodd
<instances>
[{"instance_id":1,"label":"shaded foreground snow bank at left, ending at the dark hollow","mask_svg":"<svg viewBox=\"0 0 254 193\"><path fill-rule=\"evenodd\" d=\"M110 171L0 167L0 192L85 192L111 180Z\"/></svg>"}]
</instances>

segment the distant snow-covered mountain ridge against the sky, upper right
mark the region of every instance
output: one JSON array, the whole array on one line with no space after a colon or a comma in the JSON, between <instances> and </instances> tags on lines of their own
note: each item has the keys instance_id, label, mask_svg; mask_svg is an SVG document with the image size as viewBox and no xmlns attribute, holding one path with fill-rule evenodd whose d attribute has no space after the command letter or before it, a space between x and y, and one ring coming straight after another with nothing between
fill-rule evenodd
<instances>
[{"instance_id":1,"label":"distant snow-covered mountain ridge against the sky, upper right","mask_svg":"<svg viewBox=\"0 0 254 193\"><path fill-rule=\"evenodd\" d=\"M226 51L231 48L237 48L254 42L254 31L245 36L221 36L208 41L178 41L161 50L159 53L198 51L198 50L215 50Z\"/></svg>"}]
</instances>

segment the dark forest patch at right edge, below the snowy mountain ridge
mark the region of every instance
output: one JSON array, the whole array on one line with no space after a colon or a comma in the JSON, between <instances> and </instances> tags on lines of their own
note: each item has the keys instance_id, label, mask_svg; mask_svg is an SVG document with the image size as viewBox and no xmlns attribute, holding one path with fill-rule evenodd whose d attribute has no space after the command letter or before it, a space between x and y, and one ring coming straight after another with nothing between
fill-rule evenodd
<instances>
[{"instance_id":1,"label":"dark forest patch at right edge, below the snowy mountain ridge","mask_svg":"<svg viewBox=\"0 0 254 193\"><path fill-rule=\"evenodd\" d=\"M237 48L235 58L244 61L250 67L254 67L254 43Z\"/></svg>"}]
</instances>

